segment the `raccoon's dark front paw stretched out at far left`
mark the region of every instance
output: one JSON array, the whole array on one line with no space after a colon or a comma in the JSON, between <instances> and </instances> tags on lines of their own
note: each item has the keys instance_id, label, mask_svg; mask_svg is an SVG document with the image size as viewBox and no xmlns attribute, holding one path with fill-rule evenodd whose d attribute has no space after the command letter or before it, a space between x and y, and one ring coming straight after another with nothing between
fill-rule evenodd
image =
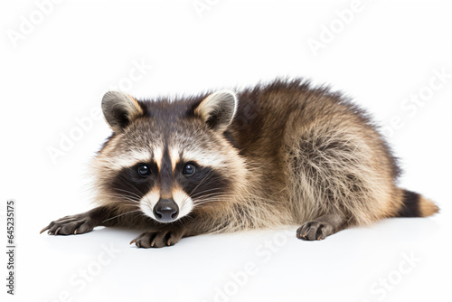
<instances>
[{"instance_id":1,"label":"raccoon's dark front paw stretched out at far left","mask_svg":"<svg viewBox=\"0 0 452 302\"><path fill-rule=\"evenodd\" d=\"M92 219L84 214L65 216L57 221L51 222L42 231L48 231L49 235L77 235L92 231L95 227ZM40 233L42 233L42 231Z\"/></svg>"}]
</instances>

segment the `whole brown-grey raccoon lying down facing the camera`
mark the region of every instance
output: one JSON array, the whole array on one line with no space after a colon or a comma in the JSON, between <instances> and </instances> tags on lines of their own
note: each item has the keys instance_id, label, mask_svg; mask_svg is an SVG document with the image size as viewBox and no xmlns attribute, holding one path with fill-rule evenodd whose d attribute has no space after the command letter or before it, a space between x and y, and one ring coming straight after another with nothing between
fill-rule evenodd
<instances>
[{"instance_id":1,"label":"whole brown-grey raccoon lying down facing the camera","mask_svg":"<svg viewBox=\"0 0 452 302\"><path fill-rule=\"evenodd\" d=\"M397 160L369 115L306 80L175 99L110 91L102 110L113 134L91 164L99 206L42 231L134 227L145 232L130 244L160 248L204 233L298 225L298 239L321 241L438 212L397 186Z\"/></svg>"}]
</instances>

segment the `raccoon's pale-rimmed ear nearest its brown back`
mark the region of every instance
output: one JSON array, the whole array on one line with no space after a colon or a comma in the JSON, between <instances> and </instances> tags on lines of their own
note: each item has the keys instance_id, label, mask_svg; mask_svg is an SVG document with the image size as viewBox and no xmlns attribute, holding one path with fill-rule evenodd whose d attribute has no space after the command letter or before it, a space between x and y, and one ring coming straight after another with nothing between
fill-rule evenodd
<instances>
[{"instance_id":1,"label":"raccoon's pale-rimmed ear nearest its brown back","mask_svg":"<svg viewBox=\"0 0 452 302\"><path fill-rule=\"evenodd\" d=\"M224 131L234 118L239 99L231 90L213 92L194 109L194 114L199 116L212 129Z\"/></svg>"}]
</instances>

